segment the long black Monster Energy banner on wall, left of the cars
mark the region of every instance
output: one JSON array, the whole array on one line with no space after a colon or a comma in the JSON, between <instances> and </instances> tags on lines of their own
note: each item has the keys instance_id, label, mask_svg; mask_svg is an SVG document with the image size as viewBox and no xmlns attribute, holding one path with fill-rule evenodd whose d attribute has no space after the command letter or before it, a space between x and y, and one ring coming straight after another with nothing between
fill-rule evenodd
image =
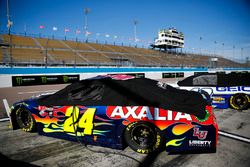
<instances>
[{"instance_id":1,"label":"long black Monster Energy banner on wall, left of the cars","mask_svg":"<svg viewBox=\"0 0 250 167\"><path fill-rule=\"evenodd\" d=\"M12 86L66 84L79 81L79 75L12 76Z\"/></svg>"}]
</instances>

